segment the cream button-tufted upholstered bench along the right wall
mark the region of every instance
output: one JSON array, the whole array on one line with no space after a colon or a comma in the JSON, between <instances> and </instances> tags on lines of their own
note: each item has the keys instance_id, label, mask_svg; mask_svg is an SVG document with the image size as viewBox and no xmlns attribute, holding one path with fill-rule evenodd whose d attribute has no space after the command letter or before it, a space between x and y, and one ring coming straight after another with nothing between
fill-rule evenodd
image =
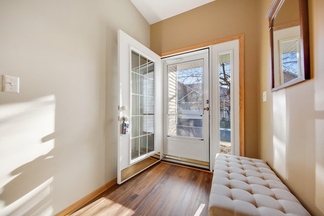
<instances>
[{"instance_id":1,"label":"cream button-tufted upholstered bench along the right wall","mask_svg":"<svg viewBox=\"0 0 324 216\"><path fill-rule=\"evenodd\" d=\"M310 215L260 159L217 154L209 215Z\"/></svg>"}]
</instances>

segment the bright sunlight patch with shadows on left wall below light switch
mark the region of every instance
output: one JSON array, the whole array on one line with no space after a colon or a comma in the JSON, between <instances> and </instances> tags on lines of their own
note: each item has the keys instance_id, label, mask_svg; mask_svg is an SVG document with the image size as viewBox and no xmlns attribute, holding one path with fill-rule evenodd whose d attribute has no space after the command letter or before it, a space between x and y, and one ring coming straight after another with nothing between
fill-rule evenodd
<instances>
[{"instance_id":1,"label":"bright sunlight patch with shadows on left wall below light switch","mask_svg":"<svg viewBox=\"0 0 324 216\"><path fill-rule=\"evenodd\" d=\"M55 96L0 104L0 215L53 215Z\"/></svg>"}]
</instances>

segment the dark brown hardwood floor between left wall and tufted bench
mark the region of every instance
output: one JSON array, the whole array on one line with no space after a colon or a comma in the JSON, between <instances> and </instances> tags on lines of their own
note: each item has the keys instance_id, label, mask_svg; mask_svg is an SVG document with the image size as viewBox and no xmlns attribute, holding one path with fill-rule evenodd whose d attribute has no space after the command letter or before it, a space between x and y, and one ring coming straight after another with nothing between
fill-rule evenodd
<instances>
[{"instance_id":1,"label":"dark brown hardwood floor between left wall and tufted bench","mask_svg":"<svg viewBox=\"0 0 324 216\"><path fill-rule=\"evenodd\" d=\"M71 215L208 215L212 176L158 162Z\"/></svg>"}]
</instances>

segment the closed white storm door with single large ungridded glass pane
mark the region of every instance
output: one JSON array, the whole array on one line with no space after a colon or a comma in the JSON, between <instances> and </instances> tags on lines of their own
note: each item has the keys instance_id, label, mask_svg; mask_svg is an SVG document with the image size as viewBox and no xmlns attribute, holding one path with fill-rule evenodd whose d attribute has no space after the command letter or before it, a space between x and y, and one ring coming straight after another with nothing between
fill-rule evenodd
<instances>
[{"instance_id":1,"label":"closed white storm door with single large ungridded glass pane","mask_svg":"<svg viewBox=\"0 0 324 216\"><path fill-rule=\"evenodd\" d=\"M163 59L166 157L209 166L209 49Z\"/></svg>"}]
</instances>

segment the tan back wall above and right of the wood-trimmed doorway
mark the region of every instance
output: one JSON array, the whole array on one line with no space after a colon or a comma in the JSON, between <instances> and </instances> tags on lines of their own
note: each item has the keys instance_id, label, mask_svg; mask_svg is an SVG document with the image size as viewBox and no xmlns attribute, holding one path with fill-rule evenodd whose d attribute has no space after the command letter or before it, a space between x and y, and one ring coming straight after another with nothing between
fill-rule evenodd
<instances>
[{"instance_id":1,"label":"tan back wall above and right of the wood-trimmed doorway","mask_svg":"<svg viewBox=\"0 0 324 216\"><path fill-rule=\"evenodd\" d=\"M158 54L245 34L245 151L250 157L258 157L257 1L217 0L151 25L151 50Z\"/></svg>"}]
</instances>

